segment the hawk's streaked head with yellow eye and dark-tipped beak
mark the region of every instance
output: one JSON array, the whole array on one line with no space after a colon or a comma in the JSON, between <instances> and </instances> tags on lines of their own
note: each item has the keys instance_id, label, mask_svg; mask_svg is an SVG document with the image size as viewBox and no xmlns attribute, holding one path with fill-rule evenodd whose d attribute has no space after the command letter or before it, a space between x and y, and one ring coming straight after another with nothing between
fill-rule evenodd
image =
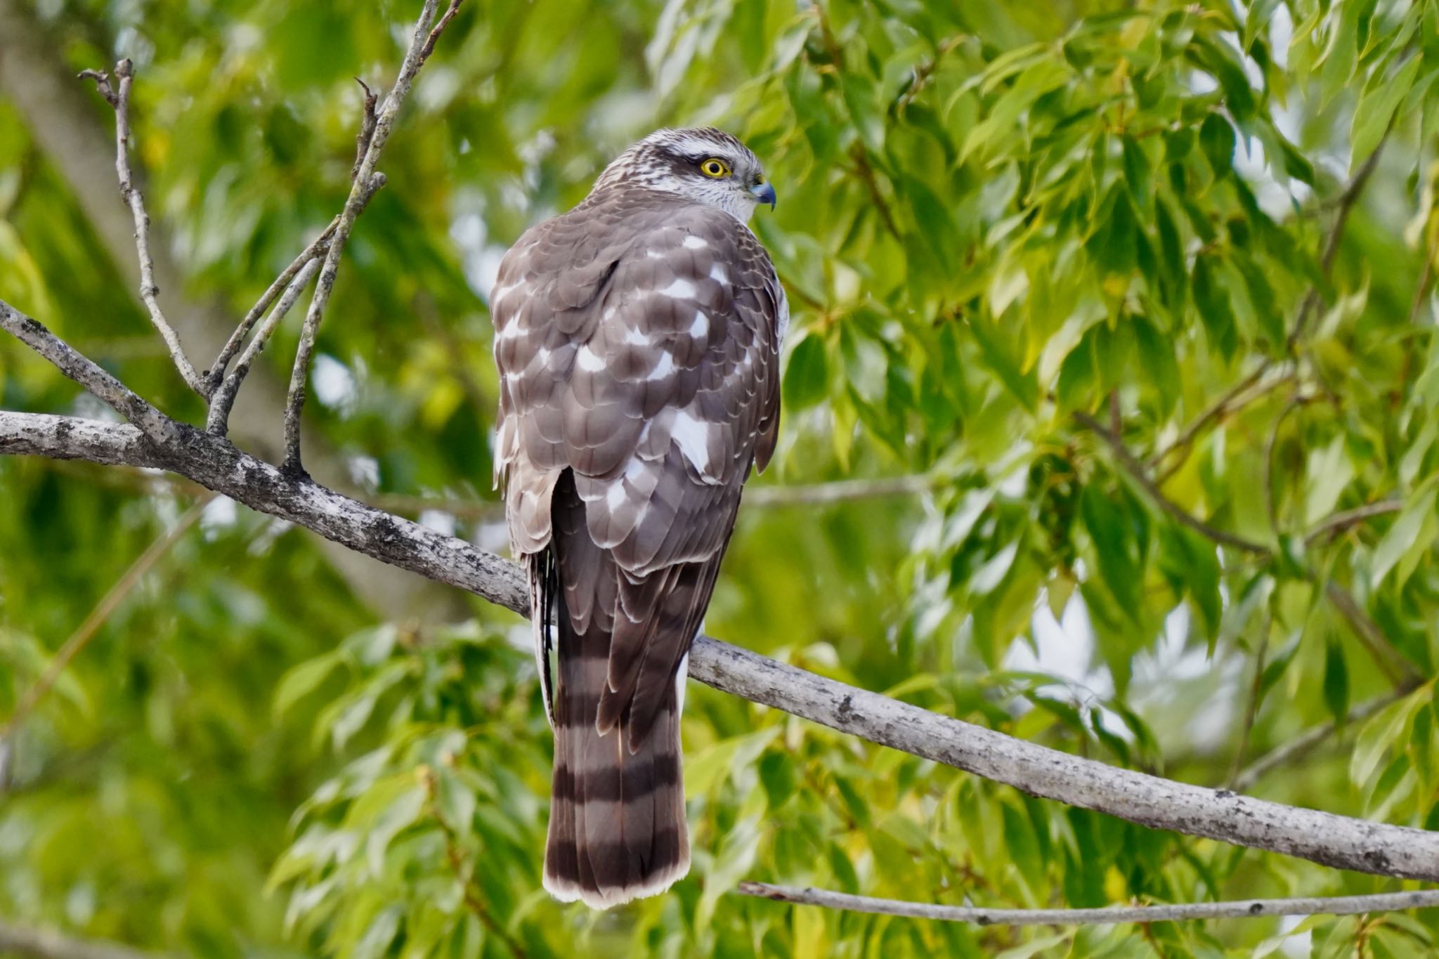
<instances>
[{"instance_id":1,"label":"hawk's streaked head with yellow eye and dark-tipped beak","mask_svg":"<svg viewBox=\"0 0 1439 959\"><path fill-rule=\"evenodd\" d=\"M714 127L656 129L606 167L594 188L614 185L675 193L718 207L741 223L761 203L771 210L776 203L760 158Z\"/></svg>"}]
</instances>

